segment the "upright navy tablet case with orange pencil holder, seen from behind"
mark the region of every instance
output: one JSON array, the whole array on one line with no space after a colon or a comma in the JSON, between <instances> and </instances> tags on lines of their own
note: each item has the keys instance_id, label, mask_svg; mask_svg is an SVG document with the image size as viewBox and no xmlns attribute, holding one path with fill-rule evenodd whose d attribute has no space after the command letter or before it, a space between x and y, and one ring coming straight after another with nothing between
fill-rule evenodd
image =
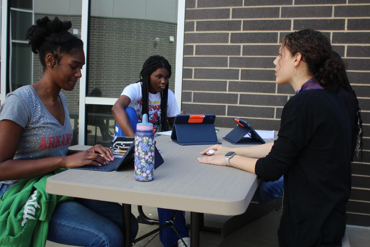
<instances>
[{"instance_id":1,"label":"upright navy tablet case with orange pencil holder, seen from behind","mask_svg":"<svg viewBox=\"0 0 370 247\"><path fill-rule=\"evenodd\" d=\"M221 144L215 131L215 114L178 114L171 139L180 145Z\"/></svg>"}]
</instances>

